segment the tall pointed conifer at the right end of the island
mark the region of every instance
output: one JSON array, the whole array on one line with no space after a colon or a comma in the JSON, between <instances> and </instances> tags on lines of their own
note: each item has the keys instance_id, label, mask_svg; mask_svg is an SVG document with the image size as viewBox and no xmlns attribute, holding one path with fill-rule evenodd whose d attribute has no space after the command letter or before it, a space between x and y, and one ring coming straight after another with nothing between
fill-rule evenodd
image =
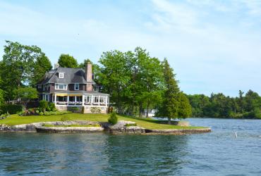
<instances>
[{"instance_id":1,"label":"tall pointed conifer at the right end of the island","mask_svg":"<svg viewBox=\"0 0 261 176\"><path fill-rule=\"evenodd\" d=\"M164 101L157 115L168 118L169 124L171 124L171 118L187 118L191 114L191 108L188 107L186 96L180 92L178 82L175 79L176 75L173 73L173 69L169 66L166 58L162 64L166 91L164 93Z\"/></svg>"}]
</instances>

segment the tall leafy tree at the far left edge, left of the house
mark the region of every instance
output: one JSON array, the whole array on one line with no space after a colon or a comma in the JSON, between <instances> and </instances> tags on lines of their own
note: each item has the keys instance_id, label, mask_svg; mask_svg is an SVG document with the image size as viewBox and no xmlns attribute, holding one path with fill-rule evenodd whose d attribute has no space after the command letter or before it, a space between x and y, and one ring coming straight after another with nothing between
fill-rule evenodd
<instances>
[{"instance_id":1,"label":"tall leafy tree at the far left edge, left of the house","mask_svg":"<svg viewBox=\"0 0 261 176\"><path fill-rule=\"evenodd\" d=\"M6 41L3 60L0 63L0 77L3 80L1 89L5 90L7 100L14 98L14 89L33 84L35 61L44 56L44 53L37 46Z\"/></svg>"}]
</instances>

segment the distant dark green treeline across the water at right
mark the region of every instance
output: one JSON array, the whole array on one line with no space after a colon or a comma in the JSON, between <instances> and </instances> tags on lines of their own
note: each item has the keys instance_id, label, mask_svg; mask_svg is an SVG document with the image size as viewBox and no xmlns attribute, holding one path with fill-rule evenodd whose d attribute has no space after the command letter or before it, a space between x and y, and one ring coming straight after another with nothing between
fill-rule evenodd
<instances>
[{"instance_id":1,"label":"distant dark green treeline across the water at right","mask_svg":"<svg viewBox=\"0 0 261 176\"><path fill-rule=\"evenodd\" d=\"M199 118L261 118L261 96L249 90L241 90L237 97L224 94L187 95L193 117Z\"/></svg>"}]
</instances>

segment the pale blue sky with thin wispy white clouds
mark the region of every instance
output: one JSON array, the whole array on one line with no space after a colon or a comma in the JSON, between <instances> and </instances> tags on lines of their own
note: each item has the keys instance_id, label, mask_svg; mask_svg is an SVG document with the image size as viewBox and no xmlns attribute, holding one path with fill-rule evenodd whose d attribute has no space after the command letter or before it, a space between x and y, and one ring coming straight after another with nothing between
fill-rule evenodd
<instances>
[{"instance_id":1,"label":"pale blue sky with thin wispy white clouds","mask_svg":"<svg viewBox=\"0 0 261 176\"><path fill-rule=\"evenodd\" d=\"M104 51L167 58L186 94L261 94L261 1L0 0L5 40L97 63Z\"/></svg>"}]
</instances>

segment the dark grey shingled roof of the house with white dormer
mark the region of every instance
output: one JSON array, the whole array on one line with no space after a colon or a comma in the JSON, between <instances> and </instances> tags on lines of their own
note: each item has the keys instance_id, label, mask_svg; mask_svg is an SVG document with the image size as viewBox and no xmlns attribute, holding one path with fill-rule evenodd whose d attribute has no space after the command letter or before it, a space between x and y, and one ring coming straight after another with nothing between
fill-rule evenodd
<instances>
[{"instance_id":1,"label":"dark grey shingled roof of the house with white dormer","mask_svg":"<svg viewBox=\"0 0 261 176\"><path fill-rule=\"evenodd\" d=\"M59 78L59 73L63 73L63 78ZM47 83L62 83L62 84L86 84L92 83L94 81L87 82L85 77L85 70L83 68L56 68L56 70L50 70L37 84L47 84Z\"/></svg>"}]
</instances>

